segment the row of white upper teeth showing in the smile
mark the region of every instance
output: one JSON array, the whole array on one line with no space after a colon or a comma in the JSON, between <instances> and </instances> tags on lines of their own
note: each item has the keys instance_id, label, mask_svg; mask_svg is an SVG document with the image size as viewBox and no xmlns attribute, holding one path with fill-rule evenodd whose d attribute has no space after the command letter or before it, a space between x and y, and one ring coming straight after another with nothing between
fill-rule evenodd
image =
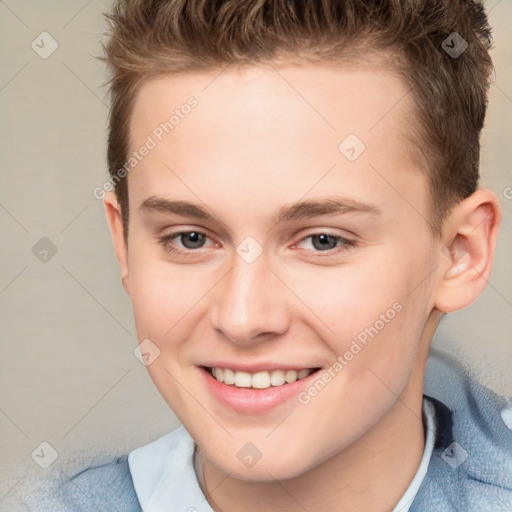
<instances>
[{"instance_id":1,"label":"row of white upper teeth showing in the smile","mask_svg":"<svg viewBox=\"0 0 512 512\"><path fill-rule=\"evenodd\" d=\"M282 386L284 383L291 384L296 380L307 377L313 370L303 368L302 370L272 370L250 374L238 372L229 368L212 368L211 373L219 382L227 385L235 385L238 388L267 389L271 386Z\"/></svg>"}]
</instances>

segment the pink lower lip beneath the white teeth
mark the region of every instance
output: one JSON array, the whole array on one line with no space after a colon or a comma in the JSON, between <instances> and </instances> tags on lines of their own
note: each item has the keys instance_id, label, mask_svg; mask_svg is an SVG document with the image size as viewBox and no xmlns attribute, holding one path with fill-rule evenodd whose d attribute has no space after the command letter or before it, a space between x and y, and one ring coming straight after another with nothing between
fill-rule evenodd
<instances>
[{"instance_id":1,"label":"pink lower lip beneath the white teeth","mask_svg":"<svg viewBox=\"0 0 512 512\"><path fill-rule=\"evenodd\" d=\"M206 386L221 404L244 414L260 414L269 411L296 397L305 385L318 377L318 371L316 371L291 384L254 389L228 386L219 382L204 368L199 370Z\"/></svg>"}]
</instances>

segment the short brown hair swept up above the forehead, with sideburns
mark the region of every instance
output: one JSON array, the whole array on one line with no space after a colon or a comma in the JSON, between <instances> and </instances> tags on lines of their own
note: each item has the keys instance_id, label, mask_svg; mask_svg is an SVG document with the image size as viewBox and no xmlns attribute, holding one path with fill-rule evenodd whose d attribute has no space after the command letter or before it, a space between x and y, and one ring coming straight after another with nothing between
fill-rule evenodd
<instances>
[{"instance_id":1,"label":"short brown hair swept up above the forehead, with sideburns","mask_svg":"<svg viewBox=\"0 0 512 512\"><path fill-rule=\"evenodd\" d=\"M111 74L111 177L126 163L131 112L146 80L287 56L332 63L356 51L362 59L387 55L384 64L410 88L416 114L411 128L415 149L427 162L434 234L478 186L493 68L480 0L115 0L105 16L110 30L101 59ZM443 45L454 46L454 32L467 43L460 56ZM126 238L127 178L117 181Z\"/></svg>"}]
</instances>

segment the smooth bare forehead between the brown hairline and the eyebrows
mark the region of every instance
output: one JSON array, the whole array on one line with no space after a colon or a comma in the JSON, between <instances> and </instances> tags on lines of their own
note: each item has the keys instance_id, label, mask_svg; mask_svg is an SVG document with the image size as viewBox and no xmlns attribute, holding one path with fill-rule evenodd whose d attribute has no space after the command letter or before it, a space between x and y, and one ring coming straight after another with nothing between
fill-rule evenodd
<instances>
[{"instance_id":1,"label":"smooth bare forehead between the brown hairline and the eyebrows","mask_svg":"<svg viewBox=\"0 0 512 512\"><path fill-rule=\"evenodd\" d=\"M148 137L155 144L129 175L130 197L179 188L191 198L236 190L290 202L336 187L382 204L421 181L426 203L412 118L408 89L386 69L262 64L162 75L134 104L131 151Z\"/></svg>"}]
</instances>

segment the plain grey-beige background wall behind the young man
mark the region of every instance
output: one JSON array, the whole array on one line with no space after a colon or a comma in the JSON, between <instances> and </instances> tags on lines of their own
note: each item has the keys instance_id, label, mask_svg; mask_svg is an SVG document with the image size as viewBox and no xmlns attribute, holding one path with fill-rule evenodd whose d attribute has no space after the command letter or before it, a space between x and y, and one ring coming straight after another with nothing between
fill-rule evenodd
<instances>
[{"instance_id":1,"label":"plain grey-beige background wall behind the young man","mask_svg":"<svg viewBox=\"0 0 512 512\"><path fill-rule=\"evenodd\" d=\"M131 305L92 195L107 176L107 96L103 64L91 55L101 53L109 5L0 0L0 508L31 475L50 471L31 456L43 441L59 457L51 470L69 470L178 424L133 354ZM504 220L489 286L445 318L434 345L512 395L512 2L488 9L496 74L482 185L499 196ZM51 49L48 36L41 48L44 31L58 43L46 59L31 47ZM57 249L47 261L43 237ZM51 454L38 450L40 462Z\"/></svg>"}]
</instances>

